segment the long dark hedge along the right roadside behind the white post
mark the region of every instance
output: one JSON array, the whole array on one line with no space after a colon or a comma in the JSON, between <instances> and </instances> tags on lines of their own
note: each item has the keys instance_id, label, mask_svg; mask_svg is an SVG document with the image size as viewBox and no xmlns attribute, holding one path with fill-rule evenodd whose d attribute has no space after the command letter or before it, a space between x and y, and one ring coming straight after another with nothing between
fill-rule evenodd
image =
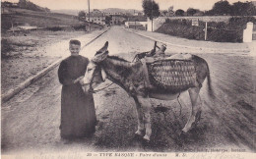
<instances>
[{"instance_id":1,"label":"long dark hedge along the right roadside behind the white post","mask_svg":"<svg viewBox=\"0 0 256 159\"><path fill-rule=\"evenodd\" d=\"M207 28L207 40L216 42L242 42L243 29L247 22L256 24L253 17L230 18L229 22L209 22ZM173 36L188 39L205 39L205 22L199 22L199 26L192 26L191 20L169 20L156 31Z\"/></svg>"}]
</instances>

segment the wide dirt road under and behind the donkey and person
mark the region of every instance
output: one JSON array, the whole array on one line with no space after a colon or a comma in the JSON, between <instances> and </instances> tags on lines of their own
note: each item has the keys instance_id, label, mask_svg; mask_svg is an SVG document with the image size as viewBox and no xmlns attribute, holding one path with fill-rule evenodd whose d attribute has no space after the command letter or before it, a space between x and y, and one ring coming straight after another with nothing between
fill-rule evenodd
<instances>
[{"instance_id":1,"label":"wide dirt road under and behind the donkey and person","mask_svg":"<svg viewBox=\"0 0 256 159\"><path fill-rule=\"evenodd\" d=\"M105 41L109 53L128 60L135 52L149 51L154 41L121 27L112 27L94 43L84 48L83 55L92 57ZM166 52L171 53L171 48ZM211 70L216 99L208 96L207 85L201 90L202 119L184 138L178 132L191 111L188 93L177 100L152 99L153 106L168 108L166 115L152 111L153 134L150 143L136 138L135 103L119 86L95 94L98 124L92 139L64 142L60 139L60 91L57 68L2 105L2 153L25 151L204 151L206 148L255 152L255 57L236 54L198 54ZM109 81L107 81L109 83ZM107 83L104 83L107 85ZM103 85L101 85L103 86Z\"/></svg>"}]
</instances>

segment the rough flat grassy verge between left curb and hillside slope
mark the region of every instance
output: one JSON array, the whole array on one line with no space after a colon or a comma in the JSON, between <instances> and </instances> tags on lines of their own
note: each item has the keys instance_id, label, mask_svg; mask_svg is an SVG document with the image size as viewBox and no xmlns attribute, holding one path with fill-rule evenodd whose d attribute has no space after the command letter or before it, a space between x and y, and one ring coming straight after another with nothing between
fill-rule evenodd
<instances>
[{"instance_id":1,"label":"rough flat grassy verge between left curb and hillside slope","mask_svg":"<svg viewBox=\"0 0 256 159\"><path fill-rule=\"evenodd\" d=\"M47 46L83 34L83 31L34 31L27 36L2 37L5 49L1 58L2 94L61 58L54 53L45 55Z\"/></svg>"}]
</instances>

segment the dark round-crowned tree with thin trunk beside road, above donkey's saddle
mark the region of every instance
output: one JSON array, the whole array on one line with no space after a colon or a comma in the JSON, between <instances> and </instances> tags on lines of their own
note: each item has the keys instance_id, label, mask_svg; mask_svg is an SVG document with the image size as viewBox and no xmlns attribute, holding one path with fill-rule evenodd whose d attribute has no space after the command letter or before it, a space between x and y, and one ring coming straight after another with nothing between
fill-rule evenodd
<instances>
[{"instance_id":1,"label":"dark round-crowned tree with thin trunk beside road, above donkey's saddle","mask_svg":"<svg viewBox=\"0 0 256 159\"><path fill-rule=\"evenodd\" d=\"M142 7L144 14L152 21L153 31L153 19L160 17L160 6L154 0L143 0Z\"/></svg>"}]
</instances>

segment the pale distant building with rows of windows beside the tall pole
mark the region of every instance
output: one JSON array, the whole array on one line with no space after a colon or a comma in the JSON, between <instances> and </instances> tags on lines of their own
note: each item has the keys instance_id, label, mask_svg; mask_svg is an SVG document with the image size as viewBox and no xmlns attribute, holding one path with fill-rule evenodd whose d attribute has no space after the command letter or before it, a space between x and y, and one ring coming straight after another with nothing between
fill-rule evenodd
<instances>
[{"instance_id":1,"label":"pale distant building with rows of windows beside the tall pole","mask_svg":"<svg viewBox=\"0 0 256 159\"><path fill-rule=\"evenodd\" d=\"M89 14L86 14L86 21L89 22ZM105 15L99 10L94 9L93 12L90 13L90 22L98 25L105 25Z\"/></svg>"}]
</instances>

